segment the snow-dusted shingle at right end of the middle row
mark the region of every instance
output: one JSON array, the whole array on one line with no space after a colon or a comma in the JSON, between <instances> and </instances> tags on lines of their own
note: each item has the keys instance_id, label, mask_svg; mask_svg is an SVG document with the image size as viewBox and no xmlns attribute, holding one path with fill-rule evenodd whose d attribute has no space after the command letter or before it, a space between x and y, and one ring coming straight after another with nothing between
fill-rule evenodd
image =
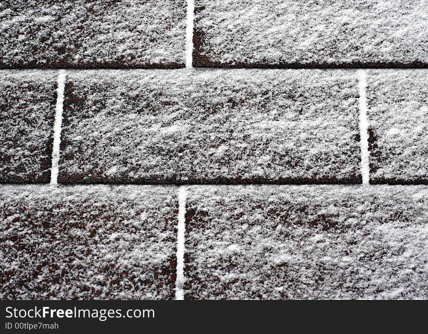
<instances>
[{"instance_id":1,"label":"snow-dusted shingle at right end of the middle row","mask_svg":"<svg viewBox=\"0 0 428 334\"><path fill-rule=\"evenodd\" d=\"M371 70L370 182L428 184L428 70Z\"/></svg>"}]
</instances>

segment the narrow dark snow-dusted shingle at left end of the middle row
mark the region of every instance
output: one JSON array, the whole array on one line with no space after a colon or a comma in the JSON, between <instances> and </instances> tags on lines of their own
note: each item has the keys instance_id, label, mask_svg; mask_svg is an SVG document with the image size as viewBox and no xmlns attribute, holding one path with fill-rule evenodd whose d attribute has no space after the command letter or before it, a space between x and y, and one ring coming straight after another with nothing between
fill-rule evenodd
<instances>
[{"instance_id":1,"label":"narrow dark snow-dusted shingle at left end of the middle row","mask_svg":"<svg viewBox=\"0 0 428 334\"><path fill-rule=\"evenodd\" d=\"M51 177L56 71L0 71L0 183Z\"/></svg>"}]
</instances>

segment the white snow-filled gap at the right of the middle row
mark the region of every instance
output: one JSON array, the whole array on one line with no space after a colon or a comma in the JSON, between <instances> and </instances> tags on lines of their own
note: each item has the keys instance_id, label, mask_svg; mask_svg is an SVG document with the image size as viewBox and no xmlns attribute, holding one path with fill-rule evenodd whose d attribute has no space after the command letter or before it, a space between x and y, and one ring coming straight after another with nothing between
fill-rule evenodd
<instances>
[{"instance_id":1,"label":"white snow-filled gap at the right of the middle row","mask_svg":"<svg viewBox=\"0 0 428 334\"><path fill-rule=\"evenodd\" d=\"M367 96L366 96L366 71L358 71L358 89L359 89L359 132L361 145L361 176L363 184L369 184L369 122L367 119Z\"/></svg>"}]
</instances>

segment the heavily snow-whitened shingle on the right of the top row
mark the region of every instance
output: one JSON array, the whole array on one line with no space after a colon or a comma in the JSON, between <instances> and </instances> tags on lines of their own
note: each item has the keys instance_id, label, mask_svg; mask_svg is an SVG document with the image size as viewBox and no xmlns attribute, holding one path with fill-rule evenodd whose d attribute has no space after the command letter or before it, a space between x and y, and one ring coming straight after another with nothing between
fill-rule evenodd
<instances>
[{"instance_id":1,"label":"heavily snow-whitened shingle on the right of the top row","mask_svg":"<svg viewBox=\"0 0 428 334\"><path fill-rule=\"evenodd\" d=\"M427 0L195 0L194 66L428 67Z\"/></svg>"}]
</instances>

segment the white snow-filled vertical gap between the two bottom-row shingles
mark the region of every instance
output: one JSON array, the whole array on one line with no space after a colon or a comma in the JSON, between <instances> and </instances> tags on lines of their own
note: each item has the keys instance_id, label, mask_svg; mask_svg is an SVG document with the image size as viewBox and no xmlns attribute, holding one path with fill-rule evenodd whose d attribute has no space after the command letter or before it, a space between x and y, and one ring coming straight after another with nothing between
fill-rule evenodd
<instances>
[{"instance_id":1,"label":"white snow-filled vertical gap between the two bottom-row shingles","mask_svg":"<svg viewBox=\"0 0 428 334\"><path fill-rule=\"evenodd\" d=\"M184 231L186 214L187 190L181 187L178 190L178 232L177 232L177 280L176 300L184 300Z\"/></svg>"}]
</instances>

